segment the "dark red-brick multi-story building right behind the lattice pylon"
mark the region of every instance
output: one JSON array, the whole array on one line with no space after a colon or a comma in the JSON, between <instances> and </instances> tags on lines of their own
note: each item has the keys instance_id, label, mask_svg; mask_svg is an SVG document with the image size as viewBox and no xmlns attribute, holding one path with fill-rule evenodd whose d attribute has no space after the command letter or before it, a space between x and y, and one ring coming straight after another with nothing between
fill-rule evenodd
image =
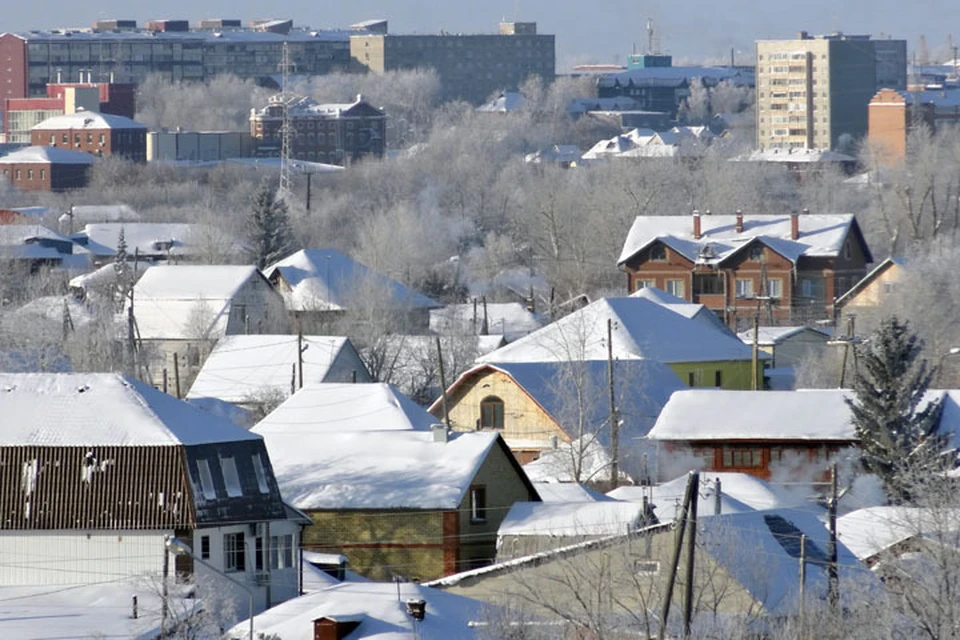
<instances>
[{"instance_id":1,"label":"dark red-brick multi-story building right behind the lattice pylon","mask_svg":"<svg viewBox=\"0 0 960 640\"><path fill-rule=\"evenodd\" d=\"M364 156L383 157L387 116L359 95L345 104L318 104L283 94L271 97L266 107L250 112L250 137L257 155L280 155L285 99L291 158L347 165Z\"/></svg>"}]
</instances>

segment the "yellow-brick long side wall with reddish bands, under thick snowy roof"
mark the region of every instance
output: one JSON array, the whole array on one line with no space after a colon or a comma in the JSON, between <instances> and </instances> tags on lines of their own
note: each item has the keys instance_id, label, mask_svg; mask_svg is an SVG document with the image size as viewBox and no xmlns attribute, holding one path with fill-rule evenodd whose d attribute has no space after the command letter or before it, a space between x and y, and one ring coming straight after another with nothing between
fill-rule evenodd
<instances>
[{"instance_id":1,"label":"yellow-brick long side wall with reddish bands, under thick snowy roof","mask_svg":"<svg viewBox=\"0 0 960 640\"><path fill-rule=\"evenodd\" d=\"M308 511L307 551L342 553L374 580L395 575L430 580L454 573L458 517L451 511Z\"/></svg>"}]
</instances>

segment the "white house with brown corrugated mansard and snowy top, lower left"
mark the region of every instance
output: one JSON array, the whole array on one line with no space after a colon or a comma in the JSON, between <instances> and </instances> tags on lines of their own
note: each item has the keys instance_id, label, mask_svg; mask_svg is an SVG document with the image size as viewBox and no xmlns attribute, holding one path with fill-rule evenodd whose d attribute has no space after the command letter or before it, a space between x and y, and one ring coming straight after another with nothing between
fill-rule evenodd
<instances>
[{"instance_id":1,"label":"white house with brown corrugated mansard and snowy top, lower left","mask_svg":"<svg viewBox=\"0 0 960 640\"><path fill-rule=\"evenodd\" d=\"M261 437L116 374L0 374L0 388L0 550L20 559L0 584L160 577L176 536L259 610L298 594L301 523ZM176 556L170 575L230 588L194 564Z\"/></svg>"}]
</instances>

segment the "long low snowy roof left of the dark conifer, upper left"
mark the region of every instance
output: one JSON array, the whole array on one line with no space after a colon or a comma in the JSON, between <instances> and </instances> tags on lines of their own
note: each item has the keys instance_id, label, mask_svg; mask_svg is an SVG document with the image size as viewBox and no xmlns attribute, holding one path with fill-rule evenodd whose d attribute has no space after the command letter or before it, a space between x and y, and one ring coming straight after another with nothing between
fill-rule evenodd
<instances>
[{"instance_id":1,"label":"long low snowy roof left of the dark conifer, upper left","mask_svg":"<svg viewBox=\"0 0 960 640\"><path fill-rule=\"evenodd\" d=\"M125 206L125 205L122 205ZM104 215L107 215L105 212ZM211 225L178 222L101 222L86 225L74 240L98 256L117 253L120 230L133 258L184 257L210 252L238 254L241 245L222 229Z\"/></svg>"}]
</instances>

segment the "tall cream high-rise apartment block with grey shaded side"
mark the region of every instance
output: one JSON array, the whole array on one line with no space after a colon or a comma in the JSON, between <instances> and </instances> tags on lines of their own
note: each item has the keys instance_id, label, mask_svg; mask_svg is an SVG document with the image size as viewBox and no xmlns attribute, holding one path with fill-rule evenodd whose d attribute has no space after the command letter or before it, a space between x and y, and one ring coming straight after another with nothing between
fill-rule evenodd
<instances>
[{"instance_id":1,"label":"tall cream high-rise apartment block with grey shaded side","mask_svg":"<svg viewBox=\"0 0 960 640\"><path fill-rule=\"evenodd\" d=\"M835 33L757 41L757 147L836 149L867 133L867 103L907 84L905 40Z\"/></svg>"}]
</instances>

